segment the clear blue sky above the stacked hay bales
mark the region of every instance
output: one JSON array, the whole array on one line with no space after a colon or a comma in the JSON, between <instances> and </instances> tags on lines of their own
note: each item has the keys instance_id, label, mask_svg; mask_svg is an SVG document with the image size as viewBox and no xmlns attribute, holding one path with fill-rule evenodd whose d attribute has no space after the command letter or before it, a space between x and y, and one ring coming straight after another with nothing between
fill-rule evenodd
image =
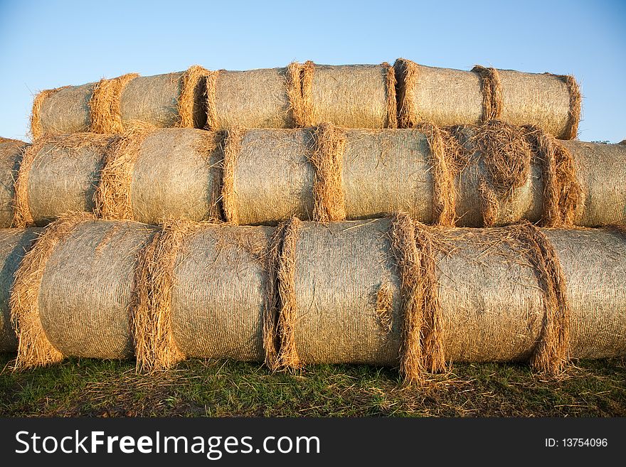
<instances>
[{"instance_id":1,"label":"clear blue sky above the stacked hay bales","mask_svg":"<svg viewBox=\"0 0 626 467\"><path fill-rule=\"evenodd\" d=\"M580 139L626 138L626 1L0 0L0 135L24 139L33 94L137 72L405 57L573 74Z\"/></svg>"}]
</instances>

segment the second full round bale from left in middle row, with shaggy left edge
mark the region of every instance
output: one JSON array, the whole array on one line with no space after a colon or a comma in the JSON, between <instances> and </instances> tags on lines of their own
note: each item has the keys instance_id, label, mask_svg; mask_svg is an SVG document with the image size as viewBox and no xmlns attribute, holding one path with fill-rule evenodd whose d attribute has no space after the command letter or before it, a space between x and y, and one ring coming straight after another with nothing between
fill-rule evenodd
<instances>
[{"instance_id":1,"label":"second full round bale from left in middle row, with shaggy left edge","mask_svg":"<svg viewBox=\"0 0 626 467\"><path fill-rule=\"evenodd\" d=\"M149 224L220 218L220 136L196 129L131 131L107 155L96 210Z\"/></svg>"}]
</instances>

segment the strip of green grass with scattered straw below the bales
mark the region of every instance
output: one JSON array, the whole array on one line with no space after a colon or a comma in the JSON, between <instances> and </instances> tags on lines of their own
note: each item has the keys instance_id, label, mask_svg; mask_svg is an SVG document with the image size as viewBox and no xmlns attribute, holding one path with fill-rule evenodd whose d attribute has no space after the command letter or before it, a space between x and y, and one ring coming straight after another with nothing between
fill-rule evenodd
<instances>
[{"instance_id":1,"label":"strip of green grass with scattered straw below the bales","mask_svg":"<svg viewBox=\"0 0 626 467\"><path fill-rule=\"evenodd\" d=\"M558 378L527 365L455 364L423 388L397 369L189 360L156 376L134 363L70 358L12 372L0 354L0 416L625 417L626 360L580 361Z\"/></svg>"}]
</instances>

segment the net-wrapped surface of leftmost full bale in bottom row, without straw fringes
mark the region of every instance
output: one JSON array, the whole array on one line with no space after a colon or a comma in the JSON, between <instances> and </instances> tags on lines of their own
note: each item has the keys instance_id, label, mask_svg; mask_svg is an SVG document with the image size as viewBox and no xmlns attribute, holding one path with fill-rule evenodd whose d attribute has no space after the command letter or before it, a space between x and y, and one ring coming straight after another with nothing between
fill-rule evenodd
<instances>
[{"instance_id":1,"label":"net-wrapped surface of leftmost full bale in bottom row, without straw fringes","mask_svg":"<svg viewBox=\"0 0 626 467\"><path fill-rule=\"evenodd\" d=\"M154 227L87 220L60 238L37 300L41 327L63 355L130 358L137 255Z\"/></svg>"}]
</instances>

